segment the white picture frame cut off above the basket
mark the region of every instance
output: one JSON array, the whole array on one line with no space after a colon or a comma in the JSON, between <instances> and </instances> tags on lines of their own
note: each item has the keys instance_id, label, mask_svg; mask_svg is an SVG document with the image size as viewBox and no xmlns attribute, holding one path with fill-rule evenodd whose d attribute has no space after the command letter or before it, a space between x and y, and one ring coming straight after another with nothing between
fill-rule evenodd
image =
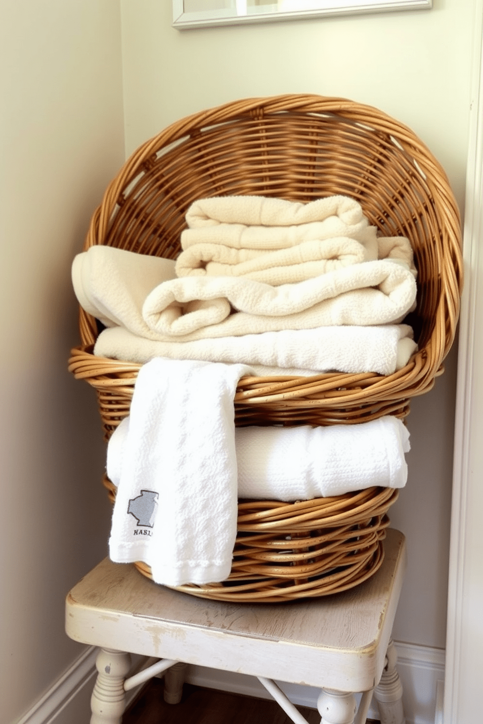
<instances>
[{"instance_id":1,"label":"white picture frame cut off above the basket","mask_svg":"<svg viewBox=\"0 0 483 724\"><path fill-rule=\"evenodd\" d=\"M185 30L431 7L432 0L173 0L172 24Z\"/></svg>"}]
</instances>

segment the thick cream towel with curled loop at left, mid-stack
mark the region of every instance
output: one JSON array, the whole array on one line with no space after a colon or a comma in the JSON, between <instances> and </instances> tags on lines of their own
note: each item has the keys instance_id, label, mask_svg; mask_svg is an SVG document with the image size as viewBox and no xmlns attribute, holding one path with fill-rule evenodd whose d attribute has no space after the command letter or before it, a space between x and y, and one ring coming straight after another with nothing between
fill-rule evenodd
<instances>
[{"instance_id":1,"label":"thick cream towel with curled loop at left, mid-stack","mask_svg":"<svg viewBox=\"0 0 483 724\"><path fill-rule=\"evenodd\" d=\"M411 271L381 260L280 287L243 277L172 279L148 295L143 319L159 340L188 342L280 329L398 323L415 300Z\"/></svg>"}]
</instances>

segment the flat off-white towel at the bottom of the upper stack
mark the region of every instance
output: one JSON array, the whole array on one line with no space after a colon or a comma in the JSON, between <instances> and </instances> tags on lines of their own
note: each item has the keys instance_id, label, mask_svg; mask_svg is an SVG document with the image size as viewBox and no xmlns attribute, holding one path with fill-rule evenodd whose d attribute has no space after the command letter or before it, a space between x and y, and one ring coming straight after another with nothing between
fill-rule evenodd
<instances>
[{"instance_id":1,"label":"flat off-white towel at the bottom of the upper stack","mask_svg":"<svg viewBox=\"0 0 483 724\"><path fill-rule=\"evenodd\" d=\"M329 371L392 374L408 363L416 349L407 324L287 329L195 342L146 340L112 327L99 334L94 354L140 364L154 357L239 362L266 376Z\"/></svg>"}]
</instances>

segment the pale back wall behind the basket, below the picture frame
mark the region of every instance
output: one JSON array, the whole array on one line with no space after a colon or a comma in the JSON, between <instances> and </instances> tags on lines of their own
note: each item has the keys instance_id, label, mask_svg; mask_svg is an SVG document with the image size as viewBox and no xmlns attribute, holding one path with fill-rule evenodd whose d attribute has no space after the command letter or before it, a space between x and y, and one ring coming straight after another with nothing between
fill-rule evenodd
<instances>
[{"instance_id":1,"label":"pale back wall behind the basket, below the picture frame","mask_svg":"<svg viewBox=\"0 0 483 724\"><path fill-rule=\"evenodd\" d=\"M176 119L248 96L320 93L378 106L411 126L462 206L474 0L430 11L180 32L171 3L121 0L126 147ZM415 400L410 476L392 521L410 562L394 635L445 646L455 354Z\"/></svg>"}]
</instances>

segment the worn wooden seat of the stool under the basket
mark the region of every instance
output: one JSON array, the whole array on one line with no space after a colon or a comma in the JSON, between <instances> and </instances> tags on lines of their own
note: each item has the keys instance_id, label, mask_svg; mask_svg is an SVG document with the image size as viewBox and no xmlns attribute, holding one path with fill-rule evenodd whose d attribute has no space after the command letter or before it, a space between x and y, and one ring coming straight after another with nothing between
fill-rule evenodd
<instances>
[{"instance_id":1,"label":"worn wooden seat of the stool under the basket","mask_svg":"<svg viewBox=\"0 0 483 724\"><path fill-rule=\"evenodd\" d=\"M387 664L405 568L404 536L388 529L379 571L356 588L296 602L234 604L159 586L133 565L106 558L68 594L66 631L102 649L369 691Z\"/></svg>"}]
</instances>

